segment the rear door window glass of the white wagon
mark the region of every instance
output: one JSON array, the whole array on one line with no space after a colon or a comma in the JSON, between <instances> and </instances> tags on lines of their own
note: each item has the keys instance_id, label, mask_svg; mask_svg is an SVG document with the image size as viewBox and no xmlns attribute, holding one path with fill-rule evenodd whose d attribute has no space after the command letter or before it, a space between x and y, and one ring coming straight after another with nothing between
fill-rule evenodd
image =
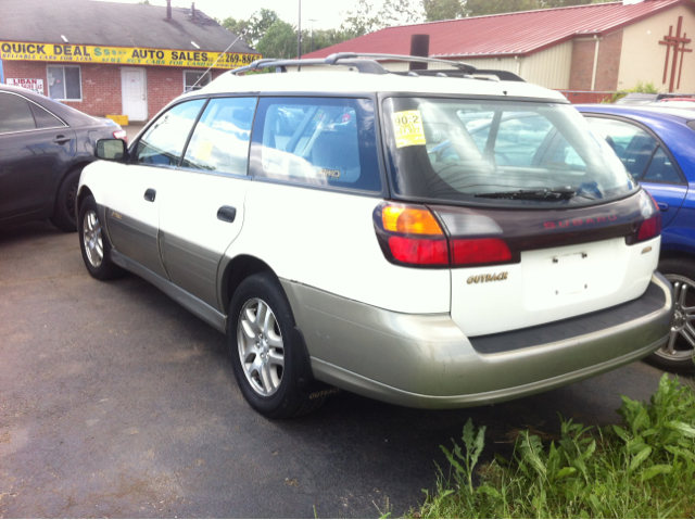
<instances>
[{"instance_id":1,"label":"rear door window glass of the white wagon","mask_svg":"<svg viewBox=\"0 0 695 520\"><path fill-rule=\"evenodd\" d=\"M255 107L255 98L211 100L195 125L182 166L247 175Z\"/></svg>"}]
</instances>

